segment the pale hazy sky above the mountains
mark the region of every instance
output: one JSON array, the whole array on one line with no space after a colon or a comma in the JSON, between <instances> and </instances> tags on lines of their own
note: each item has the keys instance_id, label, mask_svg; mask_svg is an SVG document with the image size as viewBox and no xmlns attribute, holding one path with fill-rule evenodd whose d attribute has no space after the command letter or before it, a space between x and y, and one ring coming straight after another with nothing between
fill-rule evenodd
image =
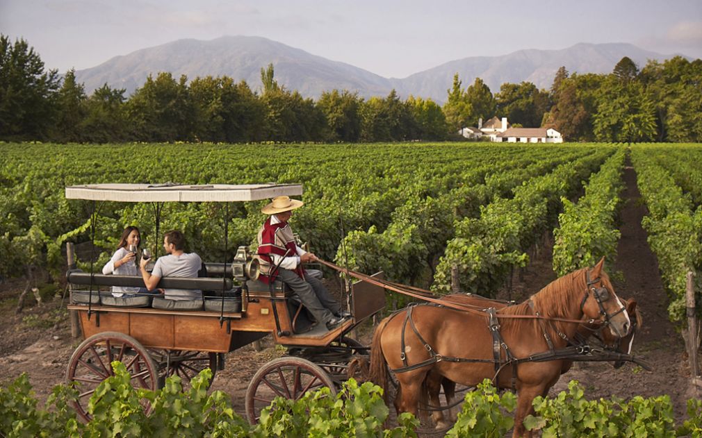
<instances>
[{"instance_id":1,"label":"pale hazy sky above the mountains","mask_svg":"<svg viewBox=\"0 0 702 438\"><path fill-rule=\"evenodd\" d=\"M576 43L702 58L702 0L0 0L0 34L48 69L178 39L263 36L385 77Z\"/></svg>"}]
</instances>

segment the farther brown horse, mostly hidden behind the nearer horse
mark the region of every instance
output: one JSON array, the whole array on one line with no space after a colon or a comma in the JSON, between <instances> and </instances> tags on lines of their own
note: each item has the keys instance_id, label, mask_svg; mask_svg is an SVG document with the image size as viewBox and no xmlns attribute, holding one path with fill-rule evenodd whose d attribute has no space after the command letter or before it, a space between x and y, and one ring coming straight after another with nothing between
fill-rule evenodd
<instances>
[{"instance_id":1,"label":"farther brown horse, mostly hidden behind the nearer horse","mask_svg":"<svg viewBox=\"0 0 702 438\"><path fill-rule=\"evenodd\" d=\"M464 306L472 306L474 308L504 308L510 305L506 301L496 301L487 299L484 296L479 296L475 294L450 294L442 297L443 301L449 301L452 303L458 303ZM622 338L614 336L609 329L602 327L602 324L588 324L587 320L583 320L583 324L578 326L578 331L576 332L576 337L582 340L587 340L590 336L597 336L600 339L602 346L608 350L616 351L617 353L631 353L631 346L634 341L634 336L636 334L637 327L641 327L642 319L639 310L636 308L637 303L633 298L623 300L624 307L626 308L629 317L631 318L632 327L629 333ZM614 368L621 367L625 362L614 361ZM572 360L562 360L561 361L561 375L567 373L569 369L573 366ZM440 384L440 385L439 385ZM439 392L441 388L444 388L444 397L446 397L446 409L439 409ZM453 417L453 399L456 396L456 382L450 381L447 378L442 378L437 382L437 378L432 378L432 373L429 373L425 378L425 390L426 394L423 398L423 402L426 399L430 400L430 408L433 411L432 420L437 427L437 429L444 429L449 427L449 424L444 420L444 411L446 411L447 416L451 422L455 421Z\"/></svg>"}]
</instances>

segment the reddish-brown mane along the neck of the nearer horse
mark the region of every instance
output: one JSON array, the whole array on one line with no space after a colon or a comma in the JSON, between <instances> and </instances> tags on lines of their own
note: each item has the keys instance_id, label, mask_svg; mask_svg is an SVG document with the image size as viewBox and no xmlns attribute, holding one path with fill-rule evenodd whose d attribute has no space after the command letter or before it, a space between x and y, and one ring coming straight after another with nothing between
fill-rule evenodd
<instances>
[{"instance_id":1,"label":"reddish-brown mane along the neck of the nearer horse","mask_svg":"<svg viewBox=\"0 0 702 438\"><path fill-rule=\"evenodd\" d=\"M548 285L543 287L536 294L522 301L516 306L509 306L498 310L498 313L504 315L534 315L534 310L529 306L529 300L533 301L535 310L543 317L567 317L573 308L573 301L581 300L582 294L586 289L585 272L588 268L581 268L566 275L563 275L556 280L553 280ZM604 273L603 273L604 275ZM508 318L501 320L500 324L505 326L517 324L517 327L523 327L523 324L528 320L510 320ZM538 320L531 320L533 324L538 324ZM574 327L573 323L552 321L552 325L557 330L566 332L568 327Z\"/></svg>"}]
</instances>

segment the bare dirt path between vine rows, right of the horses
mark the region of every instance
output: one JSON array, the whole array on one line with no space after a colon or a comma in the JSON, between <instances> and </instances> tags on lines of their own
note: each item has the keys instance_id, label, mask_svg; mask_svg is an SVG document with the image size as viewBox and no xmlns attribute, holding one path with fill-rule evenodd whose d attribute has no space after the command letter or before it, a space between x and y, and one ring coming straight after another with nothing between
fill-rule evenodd
<instances>
[{"instance_id":1,"label":"bare dirt path between vine rows, right of the horses","mask_svg":"<svg viewBox=\"0 0 702 438\"><path fill-rule=\"evenodd\" d=\"M641 226L647 208L640 202L633 168L625 169L624 180L626 189L622 196L627 202L621 211L621 239L615 264L623 279L615 278L614 287L618 296L633 297L637 301L643 327L635 336L633 354L651 364L653 371L645 371L631 363L614 369L604 362L580 362L561 378L552 394L567 389L571 379L583 383L585 395L590 399L609 398L611 395L628 399L635 395L654 397L668 394L680 422L684 418L686 400L694 397L689 392L684 343L668 320L668 298L658 274L658 261Z\"/></svg>"}]
</instances>

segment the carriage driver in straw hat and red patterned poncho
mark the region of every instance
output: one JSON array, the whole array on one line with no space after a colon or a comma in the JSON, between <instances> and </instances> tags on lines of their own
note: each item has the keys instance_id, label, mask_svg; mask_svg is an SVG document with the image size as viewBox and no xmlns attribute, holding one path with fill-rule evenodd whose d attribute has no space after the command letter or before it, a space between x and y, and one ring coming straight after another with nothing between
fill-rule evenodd
<instances>
[{"instance_id":1,"label":"carriage driver in straw hat and red patterned poncho","mask_svg":"<svg viewBox=\"0 0 702 438\"><path fill-rule=\"evenodd\" d=\"M318 260L311 252L298 247L288 224L293 210L303 205L300 200L278 196L261 209L261 212L270 214L270 217L258 231L259 279L270 283L279 277L293 289L314 319L326 324L326 328L331 330L350 315L341 310L340 304L333 299L322 282L312 275L305 275L301 266L307 261Z\"/></svg>"}]
</instances>

